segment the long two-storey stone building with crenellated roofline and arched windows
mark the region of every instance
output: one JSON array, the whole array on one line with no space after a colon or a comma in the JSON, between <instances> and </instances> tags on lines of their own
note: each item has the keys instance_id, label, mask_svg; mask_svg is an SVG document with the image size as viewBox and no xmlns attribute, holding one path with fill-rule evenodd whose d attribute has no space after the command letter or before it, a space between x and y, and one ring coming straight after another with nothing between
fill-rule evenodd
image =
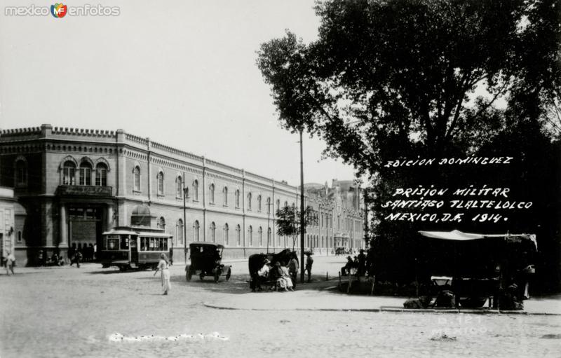
<instances>
[{"instance_id":1,"label":"long two-storey stone building with crenellated roofline and arched windows","mask_svg":"<svg viewBox=\"0 0 561 358\"><path fill-rule=\"evenodd\" d=\"M276 251L290 240L276 235L274 213L299 203L295 186L149 138L51 125L0 132L0 186L14 190L15 255L28 265L39 250L64 254L127 225L173 235L176 261L193 241L224 244L230 258Z\"/></svg>"}]
</instances>

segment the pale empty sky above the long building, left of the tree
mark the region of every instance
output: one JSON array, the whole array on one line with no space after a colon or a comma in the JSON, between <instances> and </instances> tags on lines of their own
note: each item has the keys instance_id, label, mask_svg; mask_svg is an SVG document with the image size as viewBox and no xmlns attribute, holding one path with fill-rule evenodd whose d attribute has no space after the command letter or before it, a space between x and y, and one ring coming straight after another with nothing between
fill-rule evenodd
<instances>
[{"instance_id":1,"label":"pale empty sky above the long building, left of the tree","mask_svg":"<svg viewBox=\"0 0 561 358\"><path fill-rule=\"evenodd\" d=\"M72 1L119 16L6 16L0 0L0 128L116 130L299 184L297 135L280 128L255 65L290 29L317 36L313 1ZM304 138L304 181L352 179Z\"/></svg>"}]
</instances>

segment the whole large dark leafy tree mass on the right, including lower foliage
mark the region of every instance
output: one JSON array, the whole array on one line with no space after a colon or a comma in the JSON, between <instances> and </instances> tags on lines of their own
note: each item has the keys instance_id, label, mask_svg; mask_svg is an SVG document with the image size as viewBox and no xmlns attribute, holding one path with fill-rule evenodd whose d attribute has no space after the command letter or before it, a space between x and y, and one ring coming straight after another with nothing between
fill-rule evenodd
<instances>
[{"instance_id":1,"label":"whole large dark leafy tree mass on the right, including lower foliage","mask_svg":"<svg viewBox=\"0 0 561 358\"><path fill-rule=\"evenodd\" d=\"M550 225L543 240L560 252L559 196L551 194L559 192L558 170L543 177L559 167L559 142L552 142L561 128L559 1L332 0L316 13L316 41L287 32L262 44L257 66L286 129L324 139L326 155L370 178L373 234L386 240L376 247L392 258L388 272L410 272L419 227L384 221L381 202L396 187L466 181L465 173L441 168L384 167L395 159L519 158L509 172L479 170L469 179L532 188L525 195L542 200L532 223L520 225L529 219L521 217L504 228Z\"/></svg>"}]
</instances>

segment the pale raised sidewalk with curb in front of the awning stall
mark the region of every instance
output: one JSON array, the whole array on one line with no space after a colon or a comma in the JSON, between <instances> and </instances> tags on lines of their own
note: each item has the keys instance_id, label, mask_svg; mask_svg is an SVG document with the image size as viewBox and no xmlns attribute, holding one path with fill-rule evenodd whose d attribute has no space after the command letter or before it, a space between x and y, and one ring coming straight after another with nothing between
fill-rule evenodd
<instances>
[{"instance_id":1,"label":"pale raised sidewalk with curb in front of the awning stall","mask_svg":"<svg viewBox=\"0 0 561 358\"><path fill-rule=\"evenodd\" d=\"M298 289L294 292L257 292L231 294L216 301L205 302L210 308L224 310L324 310L363 312L446 312L487 313L516 315L561 315L561 301L555 298L538 298L524 302L522 311L473 310L473 309L427 309L405 310L406 297L347 295L337 288L314 290Z\"/></svg>"}]
</instances>

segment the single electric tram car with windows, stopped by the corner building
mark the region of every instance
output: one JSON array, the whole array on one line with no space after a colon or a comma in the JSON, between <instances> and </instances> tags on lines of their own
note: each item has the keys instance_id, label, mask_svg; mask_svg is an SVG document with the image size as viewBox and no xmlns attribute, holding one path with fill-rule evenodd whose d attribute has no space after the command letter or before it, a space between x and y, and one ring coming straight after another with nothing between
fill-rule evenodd
<instances>
[{"instance_id":1,"label":"single electric tram car with windows, stopped by the corner building","mask_svg":"<svg viewBox=\"0 0 561 358\"><path fill-rule=\"evenodd\" d=\"M117 226L102 234L102 249L98 250L98 256L104 268L117 266L121 271L155 269L161 254L170 256L171 240L172 235L161 228Z\"/></svg>"}]
</instances>

